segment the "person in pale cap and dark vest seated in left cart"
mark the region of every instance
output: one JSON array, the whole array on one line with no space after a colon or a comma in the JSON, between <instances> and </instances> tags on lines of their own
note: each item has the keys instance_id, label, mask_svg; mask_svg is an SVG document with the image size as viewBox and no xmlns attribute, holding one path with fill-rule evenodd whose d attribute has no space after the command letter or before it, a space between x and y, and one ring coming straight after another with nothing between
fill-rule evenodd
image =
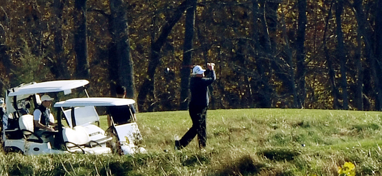
<instances>
[{"instance_id":1,"label":"person in pale cap and dark vest seated in left cart","mask_svg":"<svg viewBox=\"0 0 382 176\"><path fill-rule=\"evenodd\" d=\"M33 124L34 132L37 135L40 135L43 132L54 132L54 117L50 113L50 106L52 105L53 98L50 98L49 95L43 95L41 97L41 105L36 107L33 112Z\"/></svg>"}]
</instances>

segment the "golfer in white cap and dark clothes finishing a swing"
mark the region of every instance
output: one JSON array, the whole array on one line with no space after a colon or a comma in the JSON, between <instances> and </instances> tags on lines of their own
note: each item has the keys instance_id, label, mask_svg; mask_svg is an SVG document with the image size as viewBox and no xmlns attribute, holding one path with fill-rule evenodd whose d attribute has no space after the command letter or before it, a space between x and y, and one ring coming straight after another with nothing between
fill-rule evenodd
<instances>
[{"instance_id":1,"label":"golfer in white cap and dark clothes finishing a swing","mask_svg":"<svg viewBox=\"0 0 382 176\"><path fill-rule=\"evenodd\" d=\"M175 149L177 150L186 147L195 135L198 136L199 148L203 149L206 147L206 117L209 103L208 86L216 80L214 67L214 63L207 63L208 70L203 69L201 66L194 66L192 69L190 80L191 101L189 104L192 127L180 140L175 141ZM205 77L205 74L209 75L209 77Z\"/></svg>"}]
</instances>

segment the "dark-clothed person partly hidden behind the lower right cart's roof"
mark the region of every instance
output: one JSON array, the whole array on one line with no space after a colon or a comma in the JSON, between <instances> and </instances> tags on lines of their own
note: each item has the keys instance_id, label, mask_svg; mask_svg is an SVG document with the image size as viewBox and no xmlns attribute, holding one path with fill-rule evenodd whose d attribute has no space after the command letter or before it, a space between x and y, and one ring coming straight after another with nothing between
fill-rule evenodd
<instances>
[{"instance_id":1,"label":"dark-clothed person partly hidden behind the lower right cart's roof","mask_svg":"<svg viewBox=\"0 0 382 176\"><path fill-rule=\"evenodd\" d=\"M123 86L117 86L116 88L117 98L126 97L126 88ZM113 117L113 122L115 125L122 125L126 123L132 123L136 121L136 110L134 105L124 105L124 106L113 106L108 107L108 112L110 115L107 116L107 122L109 127L111 126L111 117Z\"/></svg>"}]
</instances>

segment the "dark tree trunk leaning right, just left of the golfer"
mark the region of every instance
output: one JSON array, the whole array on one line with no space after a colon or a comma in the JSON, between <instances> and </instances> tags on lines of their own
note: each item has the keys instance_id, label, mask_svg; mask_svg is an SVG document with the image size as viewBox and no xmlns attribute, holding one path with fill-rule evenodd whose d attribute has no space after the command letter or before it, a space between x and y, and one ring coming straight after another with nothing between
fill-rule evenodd
<instances>
[{"instance_id":1,"label":"dark tree trunk leaning right, just left of the golfer","mask_svg":"<svg viewBox=\"0 0 382 176\"><path fill-rule=\"evenodd\" d=\"M184 1L174 12L174 15L169 18L169 20L166 22L166 24L162 27L162 33L158 37L158 39L151 44L151 55L150 55L150 61L148 63L147 68L147 77L143 81L143 85L141 86L141 89L138 94L138 106L141 107L140 109L143 111L150 110L152 105L152 99L153 97L147 97L147 94L151 92L153 95L154 91L154 74L155 69L157 68L159 62L160 62L160 52L163 44L166 42L167 37L169 33L172 30L172 27L176 24L176 22L179 21L179 19L182 17L183 12L186 10L186 1ZM154 40L154 39L152 39ZM145 106L146 105L146 106Z\"/></svg>"}]
</instances>

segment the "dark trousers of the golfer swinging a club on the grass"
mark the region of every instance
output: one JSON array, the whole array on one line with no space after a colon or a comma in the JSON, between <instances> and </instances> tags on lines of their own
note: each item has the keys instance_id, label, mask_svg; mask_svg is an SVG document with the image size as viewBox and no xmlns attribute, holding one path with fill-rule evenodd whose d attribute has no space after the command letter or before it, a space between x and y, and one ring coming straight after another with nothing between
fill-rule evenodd
<instances>
[{"instance_id":1,"label":"dark trousers of the golfer swinging a club on the grass","mask_svg":"<svg viewBox=\"0 0 382 176\"><path fill-rule=\"evenodd\" d=\"M207 118L207 106L189 106L189 113L192 120L192 127L189 131L184 134L184 136L179 140L180 147L186 147L191 140L198 136L199 148L206 147L207 140L207 127L206 127L206 118Z\"/></svg>"}]
</instances>

